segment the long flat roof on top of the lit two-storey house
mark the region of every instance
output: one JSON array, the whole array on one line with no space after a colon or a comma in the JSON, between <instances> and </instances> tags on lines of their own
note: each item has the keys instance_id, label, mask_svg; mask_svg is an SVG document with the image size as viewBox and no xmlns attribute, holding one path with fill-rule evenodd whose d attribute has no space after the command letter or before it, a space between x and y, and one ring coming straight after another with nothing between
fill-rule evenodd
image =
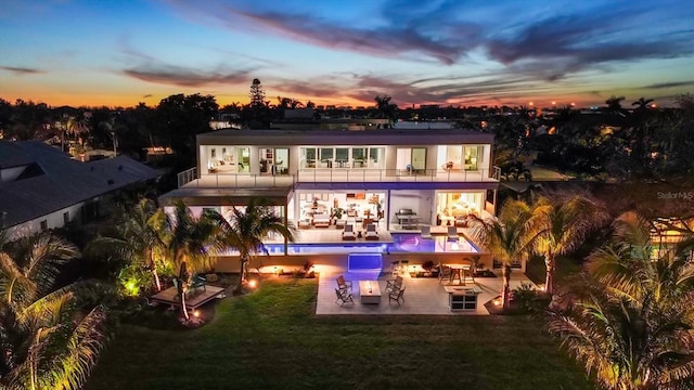
<instances>
[{"instance_id":1,"label":"long flat roof on top of the lit two-storey house","mask_svg":"<svg viewBox=\"0 0 694 390\"><path fill-rule=\"evenodd\" d=\"M494 134L462 129L235 130L197 134L198 145L458 145L493 144Z\"/></svg>"}]
</instances>

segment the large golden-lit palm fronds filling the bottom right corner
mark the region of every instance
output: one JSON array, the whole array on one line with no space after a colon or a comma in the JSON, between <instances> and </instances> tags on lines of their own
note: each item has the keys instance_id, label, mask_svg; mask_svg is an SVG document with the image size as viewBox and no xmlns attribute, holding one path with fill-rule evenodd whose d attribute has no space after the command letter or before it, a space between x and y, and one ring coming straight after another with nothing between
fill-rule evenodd
<instances>
[{"instance_id":1,"label":"large golden-lit palm fronds filling the bottom right corner","mask_svg":"<svg viewBox=\"0 0 694 390\"><path fill-rule=\"evenodd\" d=\"M553 314L550 332L604 389L691 389L694 323L687 306L663 310L650 296L633 301L603 286L573 313Z\"/></svg>"}]
</instances>

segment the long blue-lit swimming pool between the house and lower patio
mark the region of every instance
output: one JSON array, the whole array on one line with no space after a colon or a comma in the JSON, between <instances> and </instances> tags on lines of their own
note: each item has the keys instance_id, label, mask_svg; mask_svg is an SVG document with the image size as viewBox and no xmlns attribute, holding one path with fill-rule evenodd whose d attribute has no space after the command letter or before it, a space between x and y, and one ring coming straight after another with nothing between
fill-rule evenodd
<instances>
[{"instance_id":1,"label":"long blue-lit swimming pool between the house and lower patio","mask_svg":"<svg viewBox=\"0 0 694 390\"><path fill-rule=\"evenodd\" d=\"M465 237L448 240L446 236L423 239L419 233L391 233L393 243L339 243L339 244L288 244L288 255L327 253L478 253L479 249ZM267 244L270 255L284 255L283 244ZM234 255L233 252L229 255Z\"/></svg>"}]
</instances>

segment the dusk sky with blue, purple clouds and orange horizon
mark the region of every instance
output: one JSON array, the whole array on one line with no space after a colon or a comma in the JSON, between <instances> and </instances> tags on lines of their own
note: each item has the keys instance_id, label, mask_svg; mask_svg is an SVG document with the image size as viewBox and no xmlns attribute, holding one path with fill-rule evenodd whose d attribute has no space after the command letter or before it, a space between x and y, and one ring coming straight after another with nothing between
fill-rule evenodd
<instances>
[{"instance_id":1,"label":"dusk sky with blue, purple clouds and orange horizon","mask_svg":"<svg viewBox=\"0 0 694 390\"><path fill-rule=\"evenodd\" d=\"M669 105L694 92L694 1L0 0L0 98L176 93L373 105Z\"/></svg>"}]
</instances>

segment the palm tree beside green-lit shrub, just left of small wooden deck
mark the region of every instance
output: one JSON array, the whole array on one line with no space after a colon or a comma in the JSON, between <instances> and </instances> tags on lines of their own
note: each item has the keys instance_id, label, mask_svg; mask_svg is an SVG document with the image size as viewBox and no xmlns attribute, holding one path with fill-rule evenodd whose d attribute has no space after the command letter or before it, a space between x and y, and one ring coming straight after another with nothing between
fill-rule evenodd
<instances>
[{"instance_id":1,"label":"palm tree beside green-lit shrub, just left of small wooden deck","mask_svg":"<svg viewBox=\"0 0 694 390\"><path fill-rule=\"evenodd\" d=\"M143 198L132 209L121 209L120 220L116 223L113 237L99 236L88 246L87 251L95 253L116 253L127 263L140 263L154 278L156 290L162 290L157 272L157 253L165 247L163 237L154 227L156 205Z\"/></svg>"}]
</instances>

